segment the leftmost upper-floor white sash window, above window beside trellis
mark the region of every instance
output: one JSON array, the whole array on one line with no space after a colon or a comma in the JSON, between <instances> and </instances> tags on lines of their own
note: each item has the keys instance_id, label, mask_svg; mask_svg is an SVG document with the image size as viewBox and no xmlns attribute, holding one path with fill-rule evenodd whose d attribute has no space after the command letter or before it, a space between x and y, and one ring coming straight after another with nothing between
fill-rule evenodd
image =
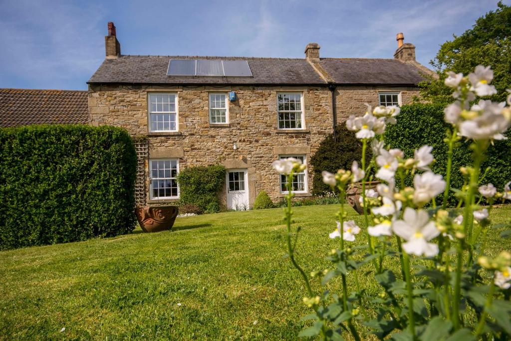
<instances>
[{"instance_id":1,"label":"leftmost upper-floor white sash window, above window beside trellis","mask_svg":"<svg viewBox=\"0 0 511 341\"><path fill-rule=\"evenodd\" d=\"M150 131L177 131L176 94L149 94Z\"/></svg>"}]
</instances>

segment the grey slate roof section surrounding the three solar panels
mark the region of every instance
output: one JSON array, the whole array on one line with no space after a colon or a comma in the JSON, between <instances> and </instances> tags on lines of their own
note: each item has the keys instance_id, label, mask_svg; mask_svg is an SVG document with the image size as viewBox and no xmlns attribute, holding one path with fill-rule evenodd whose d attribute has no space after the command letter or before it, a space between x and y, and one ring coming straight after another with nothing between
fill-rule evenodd
<instances>
[{"instance_id":1,"label":"grey slate roof section surrounding the three solar panels","mask_svg":"<svg viewBox=\"0 0 511 341\"><path fill-rule=\"evenodd\" d=\"M246 60L253 77L167 76L170 59ZM305 59L130 55L105 59L87 83L326 84Z\"/></svg>"}]
</instances>

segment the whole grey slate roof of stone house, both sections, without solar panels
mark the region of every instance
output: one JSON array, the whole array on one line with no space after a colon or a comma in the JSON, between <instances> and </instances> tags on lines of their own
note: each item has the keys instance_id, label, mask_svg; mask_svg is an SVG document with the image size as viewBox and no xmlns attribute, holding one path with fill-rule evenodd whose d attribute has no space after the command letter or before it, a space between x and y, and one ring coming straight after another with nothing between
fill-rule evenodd
<instances>
[{"instance_id":1,"label":"whole grey slate roof of stone house, both sections, without solar panels","mask_svg":"<svg viewBox=\"0 0 511 341\"><path fill-rule=\"evenodd\" d=\"M253 77L167 76L170 59L246 60ZM415 85L420 69L397 59L321 58L336 84ZM192 56L131 56L105 59L87 83L326 85L306 59Z\"/></svg>"}]
</instances>

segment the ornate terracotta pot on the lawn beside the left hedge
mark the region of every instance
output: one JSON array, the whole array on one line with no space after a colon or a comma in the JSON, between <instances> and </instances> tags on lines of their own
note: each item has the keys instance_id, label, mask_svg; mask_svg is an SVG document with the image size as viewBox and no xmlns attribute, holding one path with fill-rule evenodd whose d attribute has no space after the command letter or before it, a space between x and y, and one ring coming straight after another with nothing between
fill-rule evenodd
<instances>
[{"instance_id":1,"label":"ornate terracotta pot on the lawn beside the left hedge","mask_svg":"<svg viewBox=\"0 0 511 341\"><path fill-rule=\"evenodd\" d=\"M177 217L177 206L137 207L136 218L144 232L170 230Z\"/></svg>"}]
</instances>

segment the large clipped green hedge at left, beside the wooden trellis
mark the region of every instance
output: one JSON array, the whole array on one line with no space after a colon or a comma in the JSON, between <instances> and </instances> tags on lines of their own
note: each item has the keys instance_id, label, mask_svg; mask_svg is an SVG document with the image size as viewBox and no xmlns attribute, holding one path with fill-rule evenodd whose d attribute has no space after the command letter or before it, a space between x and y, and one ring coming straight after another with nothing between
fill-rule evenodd
<instances>
[{"instance_id":1,"label":"large clipped green hedge at left, beside the wooden trellis","mask_svg":"<svg viewBox=\"0 0 511 341\"><path fill-rule=\"evenodd\" d=\"M122 128L0 129L0 248L134 229L136 153Z\"/></svg>"}]
</instances>

